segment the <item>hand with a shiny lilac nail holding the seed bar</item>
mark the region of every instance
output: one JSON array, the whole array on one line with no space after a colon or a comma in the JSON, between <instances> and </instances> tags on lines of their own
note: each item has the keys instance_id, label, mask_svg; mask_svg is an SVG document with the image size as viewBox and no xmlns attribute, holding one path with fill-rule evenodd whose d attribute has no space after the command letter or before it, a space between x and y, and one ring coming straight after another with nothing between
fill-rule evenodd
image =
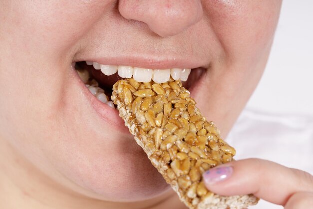
<instances>
[{"instance_id":1,"label":"hand with a shiny lilac nail holding the seed bar","mask_svg":"<svg viewBox=\"0 0 313 209\"><path fill-rule=\"evenodd\" d=\"M285 209L313 208L313 176L271 161L233 161L208 170L203 178L207 189L219 195L254 194Z\"/></svg>"}]
</instances>

